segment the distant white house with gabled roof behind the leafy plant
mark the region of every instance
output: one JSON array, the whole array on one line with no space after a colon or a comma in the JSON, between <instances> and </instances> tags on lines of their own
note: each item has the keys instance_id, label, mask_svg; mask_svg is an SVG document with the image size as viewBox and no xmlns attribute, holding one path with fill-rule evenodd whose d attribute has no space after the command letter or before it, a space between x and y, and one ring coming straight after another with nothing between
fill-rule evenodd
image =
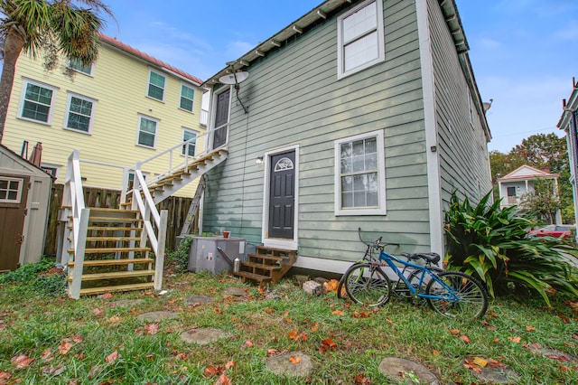
<instances>
[{"instance_id":1,"label":"distant white house with gabled roof behind the leafy plant","mask_svg":"<svg viewBox=\"0 0 578 385\"><path fill-rule=\"evenodd\" d=\"M551 174L524 164L511 173L498 179L500 207L520 205L524 195L534 192L534 184L537 179L553 181L553 194L558 197L558 178L560 174ZM523 204L520 205L523 208ZM556 224L562 223L562 214L558 210L555 218Z\"/></svg>"}]
</instances>

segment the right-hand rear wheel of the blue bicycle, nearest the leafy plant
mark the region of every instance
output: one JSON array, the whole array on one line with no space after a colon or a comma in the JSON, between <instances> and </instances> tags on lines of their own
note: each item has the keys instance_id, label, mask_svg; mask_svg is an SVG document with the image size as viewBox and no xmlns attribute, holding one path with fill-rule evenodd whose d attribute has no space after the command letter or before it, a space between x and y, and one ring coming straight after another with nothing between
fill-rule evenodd
<instances>
[{"instance_id":1,"label":"right-hand rear wheel of the blue bicycle, nearest the leafy plant","mask_svg":"<svg viewBox=\"0 0 578 385\"><path fill-rule=\"evenodd\" d=\"M434 311L447 317L463 319L479 318L486 313L488 293L480 281L461 271L443 271L438 273L437 277L451 287L453 293L432 279L427 284L425 293L439 296L427 298L427 303Z\"/></svg>"}]
</instances>

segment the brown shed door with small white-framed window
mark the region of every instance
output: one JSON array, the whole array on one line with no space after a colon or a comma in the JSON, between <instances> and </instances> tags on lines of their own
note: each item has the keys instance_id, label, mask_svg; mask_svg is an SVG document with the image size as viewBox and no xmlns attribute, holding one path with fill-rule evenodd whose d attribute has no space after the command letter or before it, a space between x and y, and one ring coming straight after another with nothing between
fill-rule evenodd
<instances>
[{"instance_id":1,"label":"brown shed door with small white-framed window","mask_svg":"<svg viewBox=\"0 0 578 385\"><path fill-rule=\"evenodd\" d=\"M29 177L0 175L0 271L18 268Z\"/></svg>"}]
</instances>

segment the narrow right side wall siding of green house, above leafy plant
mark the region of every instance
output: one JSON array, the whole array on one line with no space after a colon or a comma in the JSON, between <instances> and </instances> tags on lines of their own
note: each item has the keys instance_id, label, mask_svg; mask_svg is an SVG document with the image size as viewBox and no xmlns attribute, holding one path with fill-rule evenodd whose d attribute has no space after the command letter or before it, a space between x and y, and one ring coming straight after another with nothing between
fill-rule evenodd
<instances>
[{"instance_id":1,"label":"narrow right side wall siding of green house, above leafy plant","mask_svg":"<svg viewBox=\"0 0 578 385\"><path fill-rule=\"evenodd\" d=\"M443 208L458 191L472 202L491 190L487 144L474 108L471 125L468 83L461 69L443 14L435 0L428 0L433 46L436 124L442 175ZM473 95L475 89L471 90ZM480 185L478 184L480 183Z\"/></svg>"}]
</instances>

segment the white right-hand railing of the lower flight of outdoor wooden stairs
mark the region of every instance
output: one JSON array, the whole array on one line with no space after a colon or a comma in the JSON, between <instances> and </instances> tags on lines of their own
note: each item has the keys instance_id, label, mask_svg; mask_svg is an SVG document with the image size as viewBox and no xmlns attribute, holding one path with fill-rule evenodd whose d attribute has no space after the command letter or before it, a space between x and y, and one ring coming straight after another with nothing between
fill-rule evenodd
<instances>
[{"instance_id":1,"label":"white right-hand railing of the lower flight of outdoor wooden stairs","mask_svg":"<svg viewBox=\"0 0 578 385\"><path fill-rule=\"evenodd\" d=\"M166 242L166 226L169 217L169 211L162 210L160 213L154 205L153 195L148 189L140 189L140 186L146 186L144 175L141 171L141 163L135 165L135 185L133 188L132 210L138 210L143 220L143 229L141 233L141 247L146 246L146 239L151 244L154 256L154 289L161 290L163 286L163 267L164 267L164 246ZM141 195L142 193L142 195ZM144 199L143 199L144 198ZM158 230L154 233L153 222Z\"/></svg>"}]
</instances>

